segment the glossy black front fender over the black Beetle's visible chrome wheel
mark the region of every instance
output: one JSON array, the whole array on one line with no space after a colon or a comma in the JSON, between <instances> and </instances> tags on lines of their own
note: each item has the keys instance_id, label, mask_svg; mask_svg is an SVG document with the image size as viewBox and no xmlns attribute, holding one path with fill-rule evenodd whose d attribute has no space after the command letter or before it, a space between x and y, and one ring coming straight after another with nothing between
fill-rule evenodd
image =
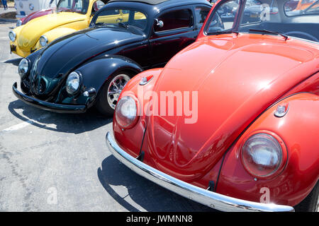
<instances>
[{"instance_id":1,"label":"glossy black front fender over the black Beetle's visible chrome wheel","mask_svg":"<svg viewBox=\"0 0 319 226\"><path fill-rule=\"evenodd\" d=\"M127 57L107 54L86 61L75 71L79 71L82 74L82 84L86 90L94 88L96 93L99 93L103 84L114 73L129 71L131 75L135 76L142 72L143 69L138 63Z\"/></svg>"}]
</instances>

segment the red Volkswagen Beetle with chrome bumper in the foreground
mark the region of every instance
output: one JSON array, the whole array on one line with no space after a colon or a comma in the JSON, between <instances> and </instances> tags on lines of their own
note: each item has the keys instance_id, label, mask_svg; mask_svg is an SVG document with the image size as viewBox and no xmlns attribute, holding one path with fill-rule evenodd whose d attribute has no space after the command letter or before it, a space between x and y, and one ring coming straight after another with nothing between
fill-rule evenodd
<instances>
[{"instance_id":1,"label":"red Volkswagen Beetle with chrome bumper in the foreground","mask_svg":"<svg viewBox=\"0 0 319 226\"><path fill-rule=\"evenodd\" d=\"M108 148L218 210L317 211L319 2L292 11L284 0L236 0L235 16L219 15L230 2L218 1L163 69L125 85ZM252 4L256 15L245 13Z\"/></svg>"}]
</instances>

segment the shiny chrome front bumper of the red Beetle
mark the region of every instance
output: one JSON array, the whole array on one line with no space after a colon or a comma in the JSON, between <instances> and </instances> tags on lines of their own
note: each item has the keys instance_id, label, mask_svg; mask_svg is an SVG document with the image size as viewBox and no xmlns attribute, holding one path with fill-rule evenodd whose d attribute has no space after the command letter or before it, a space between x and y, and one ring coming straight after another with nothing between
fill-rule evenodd
<instances>
[{"instance_id":1,"label":"shiny chrome front bumper of the red Beetle","mask_svg":"<svg viewBox=\"0 0 319 226\"><path fill-rule=\"evenodd\" d=\"M293 212L294 209L291 206L281 206L275 204L255 203L251 201L245 201L238 198L232 198L217 194L212 191L201 189L198 186L183 182L179 179L164 174L159 170L146 165L140 160L128 155L123 149L121 149L116 141L114 141L111 133L106 133L106 145L111 153L124 165L132 169L140 176L149 179L150 181L163 186L165 189L174 191L175 193L189 198L193 201L201 203L205 206L215 208L217 210L229 211L229 212Z\"/></svg>"}]
</instances>

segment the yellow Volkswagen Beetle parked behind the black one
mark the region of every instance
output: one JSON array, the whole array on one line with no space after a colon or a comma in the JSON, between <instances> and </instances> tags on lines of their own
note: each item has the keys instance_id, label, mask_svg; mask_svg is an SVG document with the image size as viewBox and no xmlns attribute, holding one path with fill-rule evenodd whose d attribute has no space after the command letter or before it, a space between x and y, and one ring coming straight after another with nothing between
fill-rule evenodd
<instances>
[{"instance_id":1,"label":"yellow Volkswagen Beetle parked behind the black one","mask_svg":"<svg viewBox=\"0 0 319 226\"><path fill-rule=\"evenodd\" d=\"M30 20L9 32L11 53L27 57L47 44L88 28L91 18L108 0L60 0L55 13ZM112 15L111 18L119 18Z\"/></svg>"}]
</instances>

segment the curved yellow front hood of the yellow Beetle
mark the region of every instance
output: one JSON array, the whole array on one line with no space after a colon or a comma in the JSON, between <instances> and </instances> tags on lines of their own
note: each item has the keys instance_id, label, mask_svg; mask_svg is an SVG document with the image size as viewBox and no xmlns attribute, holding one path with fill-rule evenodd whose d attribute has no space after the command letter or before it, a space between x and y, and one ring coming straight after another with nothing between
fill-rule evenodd
<instances>
[{"instance_id":1,"label":"curved yellow front hood of the yellow Beetle","mask_svg":"<svg viewBox=\"0 0 319 226\"><path fill-rule=\"evenodd\" d=\"M45 32L67 23L73 23L85 19L85 15L69 12L52 13L35 18L26 23L17 35L18 46L23 51L30 52L30 49L35 46L41 35Z\"/></svg>"}]
</instances>

